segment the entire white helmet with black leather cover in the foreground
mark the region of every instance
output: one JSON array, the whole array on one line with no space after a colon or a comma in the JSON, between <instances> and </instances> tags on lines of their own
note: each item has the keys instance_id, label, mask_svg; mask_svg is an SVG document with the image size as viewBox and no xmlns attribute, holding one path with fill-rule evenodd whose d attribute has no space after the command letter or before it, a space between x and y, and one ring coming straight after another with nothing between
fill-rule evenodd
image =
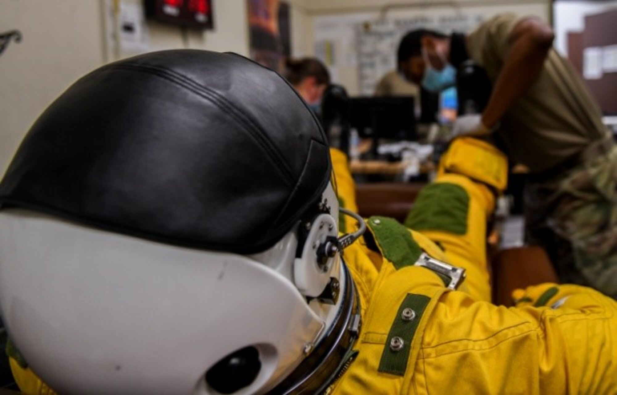
<instances>
[{"instance_id":1,"label":"entire white helmet with black leather cover in the foreground","mask_svg":"<svg viewBox=\"0 0 617 395\"><path fill-rule=\"evenodd\" d=\"M337 238L330 179L274 71L201 50L104 65L0 182L9 336L59 393L317 391L357 336L339 252L361 231Z\"/></svg>"}]
</instances>

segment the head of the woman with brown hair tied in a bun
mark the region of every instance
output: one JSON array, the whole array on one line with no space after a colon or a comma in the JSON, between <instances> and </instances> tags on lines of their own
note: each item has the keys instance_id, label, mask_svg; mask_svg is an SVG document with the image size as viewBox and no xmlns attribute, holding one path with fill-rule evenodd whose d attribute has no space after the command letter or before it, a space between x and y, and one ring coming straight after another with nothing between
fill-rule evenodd
<instances>
[{"instance_id":1,"label":"head of the woman with brown hair tied in a bun","mask_svg":"<svg viewBox=\"0 0 617 395\"><path fill-rule=\"evenodd\" d=\"M330 73L317 58L288 58L283 76L313 112L319 114L321 98L330 84Z\"/></svg>"}]
</instances>

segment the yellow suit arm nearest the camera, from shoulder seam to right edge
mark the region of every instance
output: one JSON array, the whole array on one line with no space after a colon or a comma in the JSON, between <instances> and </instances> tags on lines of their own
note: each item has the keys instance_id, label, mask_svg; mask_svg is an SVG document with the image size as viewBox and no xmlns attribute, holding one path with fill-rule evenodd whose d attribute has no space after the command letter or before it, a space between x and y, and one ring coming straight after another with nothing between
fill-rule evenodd
<instances>
[{"instance_id":1,"label":"yellow suit arm nearest the camera, from shoulder seam to right edge","mask_svg":"<svg viewBox=\"0 0 617 395\"><path fill-rule=\"evenodd\" d=\"M424 332L419 393L613 394L617 303L576 285L516 291L518 306L442 295ZM439 375L438 372L452 372Z\"/></svg>"}]
</instances>

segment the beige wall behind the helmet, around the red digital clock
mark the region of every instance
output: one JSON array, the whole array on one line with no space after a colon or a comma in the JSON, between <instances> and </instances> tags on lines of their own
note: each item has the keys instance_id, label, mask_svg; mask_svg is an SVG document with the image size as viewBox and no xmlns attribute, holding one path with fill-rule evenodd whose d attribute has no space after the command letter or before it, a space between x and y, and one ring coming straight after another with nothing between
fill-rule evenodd
<instances>
[{"instance_id":1,"label":"beige wall behind the helmet, around the red digital clock","mask_svg":"<svg viewBox=\"0 0 617 395\"><path fill-rule=\"evenodd\" d=\"M64 89L83 74L134 53L115 50L106 12L117 0L0 0L0 32L19 29L0 56L0 176L31 124ZM141 4L141 0L122 0ZM310 1L310 0L309 0ZM310 19L303 4L291 0L292 46L312 48ZM215 0L215 29L188 30L148 22L149 50L195 48L248 55L247 0Z\"/></svg>"}]
</instances>

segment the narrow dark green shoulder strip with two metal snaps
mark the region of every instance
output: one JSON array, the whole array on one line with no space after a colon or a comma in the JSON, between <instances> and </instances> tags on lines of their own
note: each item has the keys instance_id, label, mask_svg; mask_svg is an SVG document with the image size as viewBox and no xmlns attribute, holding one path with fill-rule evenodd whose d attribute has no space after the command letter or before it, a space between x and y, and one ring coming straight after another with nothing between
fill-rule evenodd
<instances>
[{"instance_id":1,"label":"narrow dark green shoulder strip with two metal snaps","mask_svg":"<svg viewBox=\"0 0 617 395\"><path fill-rule=\"evenodd\" d=\"M386 345L379 361L379 372L405 375L409 353L412 351L413 335L418 329L429 301L431 298L424 295L407 294L387 335Z\"/></svg>"}]
</instances>

